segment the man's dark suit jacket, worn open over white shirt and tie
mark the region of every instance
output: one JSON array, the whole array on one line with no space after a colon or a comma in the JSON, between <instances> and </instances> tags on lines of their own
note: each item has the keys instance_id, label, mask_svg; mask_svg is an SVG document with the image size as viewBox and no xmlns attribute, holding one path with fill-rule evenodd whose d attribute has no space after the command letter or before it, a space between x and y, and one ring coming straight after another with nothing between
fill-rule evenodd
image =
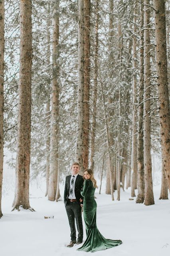
<instances>
[{"instance_id":1,"label":"man's dark suit jacket, worn open over white shirt and tie","mask_svg":"<svg viewBox=\"0 0 170 256\"><path fill-rule=\"evenodd\" d=\"M69 197L70 179L71 179L71 175L69 175L65 178L65 188L64 188L64 204L65 204L65 206L67 204L67 199ZM83 197L80 194L80 191L83 187L83 182L84 182L83 176L78 174L77 178L75 180L75 186L74 186L75 198L76 198L78 204L80 204L79 199L80 198L83 199ZM82 202L82 204L83 204L83 202Z\"/></svg>"}]
</instances>

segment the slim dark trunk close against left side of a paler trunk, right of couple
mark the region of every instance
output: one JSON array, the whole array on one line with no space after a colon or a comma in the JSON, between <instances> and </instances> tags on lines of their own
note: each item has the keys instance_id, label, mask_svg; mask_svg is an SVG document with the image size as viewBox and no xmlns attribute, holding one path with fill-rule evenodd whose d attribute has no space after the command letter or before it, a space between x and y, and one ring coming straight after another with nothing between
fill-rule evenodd
<instances>
[{"instance_id":1,"label":"slim dark trunk close against left side of a paler trunk, right of couple","mask_svg":"<svg viewBox=\"0 0 170 256\"><path fill-rule=\"evenodd\" d=\"M140 1L140 46L143 46L144 32L143 0ZM144 202L144 156L143 156L143 90L144 90L144 49L140 48L140 84L138 88L138 137L137 137L137 163L138 163L138 196L136 203Z\"/></svg>"}]
</instances>

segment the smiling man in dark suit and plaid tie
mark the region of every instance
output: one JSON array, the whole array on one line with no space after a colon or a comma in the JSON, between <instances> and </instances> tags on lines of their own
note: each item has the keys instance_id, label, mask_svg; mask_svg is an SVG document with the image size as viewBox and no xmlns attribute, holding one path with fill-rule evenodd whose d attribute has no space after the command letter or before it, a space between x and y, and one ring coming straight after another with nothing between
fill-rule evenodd
<instances>
[{"instance_id":1,"label":"smiling man in dark suit and plaid tie","mask_svg":"<svg viewBox=\"0 0 170 256\"><path fill-rule=\"evenodd\" d=\"M79 175L80 166L75 162L71 166L72 175L65 179L64 189L64 204L69 219L71 229L71 242L67 247L73 247L74 244L81 244L83 242L83 223L81 217L81 202L83 201L80 194L83 187L83 176ZM78 230L78 238L76 241L75 220Z\"/></svg>"}]
</instances>

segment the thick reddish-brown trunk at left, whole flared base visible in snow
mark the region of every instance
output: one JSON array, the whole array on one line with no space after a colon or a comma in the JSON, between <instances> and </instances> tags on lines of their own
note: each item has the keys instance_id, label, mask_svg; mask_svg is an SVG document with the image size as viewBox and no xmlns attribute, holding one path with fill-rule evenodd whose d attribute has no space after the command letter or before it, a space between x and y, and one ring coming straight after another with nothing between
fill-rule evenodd
<instances>
[{"instance_id":1,"label":"thick reddish-brown trunk at left, whole flared base visible in snow","mask_svg":"<svg viewBox=\"0 0 170 256\"><path fill-rule=\"evenodd\" d=\"M16 195L13 210L30 209L32 2L20 1L19 114L16 153Z\"/></svg>"}]
</instances>

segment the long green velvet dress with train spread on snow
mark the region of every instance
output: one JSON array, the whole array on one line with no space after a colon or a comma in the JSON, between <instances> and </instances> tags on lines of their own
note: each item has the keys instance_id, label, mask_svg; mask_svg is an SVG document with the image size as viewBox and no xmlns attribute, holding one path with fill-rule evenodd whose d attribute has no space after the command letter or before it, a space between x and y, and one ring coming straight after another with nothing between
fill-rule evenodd
<instances>
[{"instance_id":1,"label":"long green velvet dress with train spread on snow","mask_svg":"<svg viewBox=\"0 0 170 256\"><path fill-rule=\"evenodd\" d=\"M85 220L86 235L83 246L78 248L79 251L96 252L106 250L114 246L122 244L121 240L106 239L97 229L96 225L96 208L97 204L94 199L95 188L91 180L85 180L83 191L81 195L84 197L83 201L83 216Z\"/></svg>"}]
</instances>

